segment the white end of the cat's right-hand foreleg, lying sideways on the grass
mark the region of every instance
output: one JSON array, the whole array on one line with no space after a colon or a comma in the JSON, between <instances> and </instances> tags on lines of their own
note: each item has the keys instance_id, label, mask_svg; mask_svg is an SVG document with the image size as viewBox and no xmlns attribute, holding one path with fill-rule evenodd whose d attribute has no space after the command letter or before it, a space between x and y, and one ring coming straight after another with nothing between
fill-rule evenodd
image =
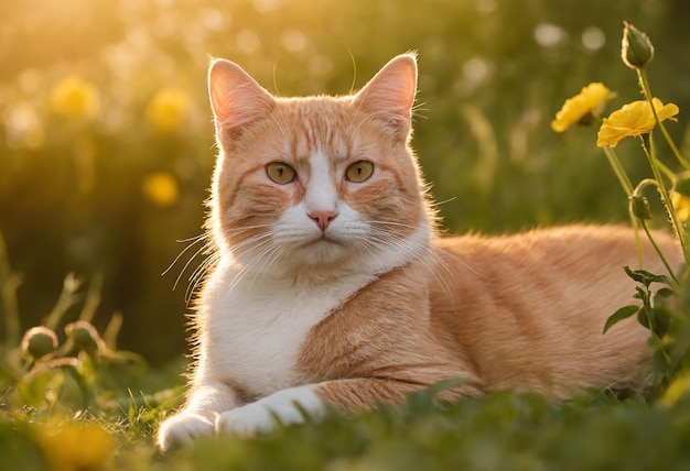
<instances>
[{"instance_id":1,"label":"white end of the cat's right-hand foreleg, lying sideways on the grass","mask_svg":"<svg viewBox=\"0 0 690 471\"><path fill-rule=\"evenodd\" d=\"M309 386L279 391L256 403L224 412L216 419L216 430L250 437L274 430L277 419L282 425L303 423L302 410L312 417L319 417L324 410L322 401Z\"/></svg>"}]
</instances>

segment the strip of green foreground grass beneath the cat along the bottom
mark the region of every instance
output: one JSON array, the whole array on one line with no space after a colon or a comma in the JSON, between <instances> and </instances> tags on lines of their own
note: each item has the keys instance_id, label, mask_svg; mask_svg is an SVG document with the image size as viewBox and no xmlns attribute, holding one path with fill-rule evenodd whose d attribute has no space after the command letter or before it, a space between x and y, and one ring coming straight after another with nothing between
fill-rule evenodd
<instances>
[{"instance_id":1,"label":"strip of green foreground grass beneath the cat along the bottom","mask_svg":"<svg viewBox=\"0 0 690 471\"><path fill-rule=\"evenodd\" d=\"M690 465L689 406L618 401L599 392L569 402L500 392L439 404L421 392L401 406L354 417L332 412L319 424L254 439L202 439L165 456L151 436L168 412L163 404L90 410L80 420L112 436L105 469L681 470ZM50 469L36 435L68 418L45 421L33 413L0 415L0 469Z\"/></svg>"}]
</instances>

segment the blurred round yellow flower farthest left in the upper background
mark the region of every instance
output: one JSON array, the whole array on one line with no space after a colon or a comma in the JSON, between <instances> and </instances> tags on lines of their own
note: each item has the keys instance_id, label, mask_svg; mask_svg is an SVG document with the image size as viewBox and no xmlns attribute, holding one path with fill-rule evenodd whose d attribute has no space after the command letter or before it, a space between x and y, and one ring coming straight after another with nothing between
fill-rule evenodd
<instances>
[{"instance_id":1,"label":"blurred round yellow flower farthest left in the upper background","mask_svg":"<svg viewBox=\"0 0 690 471\"><path fill-rule=\"evenodd\" d=\"M53 86L50 105L58 114L91 118L98 111L98 90L77 76L65 77Z\"/></svg>"}]
</instances>

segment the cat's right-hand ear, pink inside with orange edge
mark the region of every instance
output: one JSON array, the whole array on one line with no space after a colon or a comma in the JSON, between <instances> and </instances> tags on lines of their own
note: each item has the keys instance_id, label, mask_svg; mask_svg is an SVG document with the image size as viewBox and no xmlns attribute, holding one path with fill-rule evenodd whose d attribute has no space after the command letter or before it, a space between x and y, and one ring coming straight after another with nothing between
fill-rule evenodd
<instances>
[{"instance_id":1,"label":"cat's right-hand ear, pink inside with orange edge","mask_svg":"<svg viewBox=\"0 0 690 471\"><path fill-rule=\"evenodd\" d=\"M388 122L402 139L412 130L412 106L417 94L417 57L393 57L355 97L360 109Z\"/></svg>"}]
</instances>

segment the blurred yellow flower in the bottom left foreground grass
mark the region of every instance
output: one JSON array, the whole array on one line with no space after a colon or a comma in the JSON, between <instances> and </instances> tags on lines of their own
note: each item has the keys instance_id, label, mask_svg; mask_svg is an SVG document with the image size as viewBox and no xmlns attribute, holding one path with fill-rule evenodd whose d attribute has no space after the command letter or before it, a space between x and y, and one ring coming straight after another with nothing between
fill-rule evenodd
<instances>
[{"instance_id":1,"label":"blurred yellow flower in the bottom left foreground grass","mask_svg":"<svg viewBox=\"0 0 690 471\"><path fill-rule=\"evenodd\" d=\"M104 469L111 454L110 435L96 424L67 423L40 436L41 448L60 471Z\"/></svg>"}]
</instances>

